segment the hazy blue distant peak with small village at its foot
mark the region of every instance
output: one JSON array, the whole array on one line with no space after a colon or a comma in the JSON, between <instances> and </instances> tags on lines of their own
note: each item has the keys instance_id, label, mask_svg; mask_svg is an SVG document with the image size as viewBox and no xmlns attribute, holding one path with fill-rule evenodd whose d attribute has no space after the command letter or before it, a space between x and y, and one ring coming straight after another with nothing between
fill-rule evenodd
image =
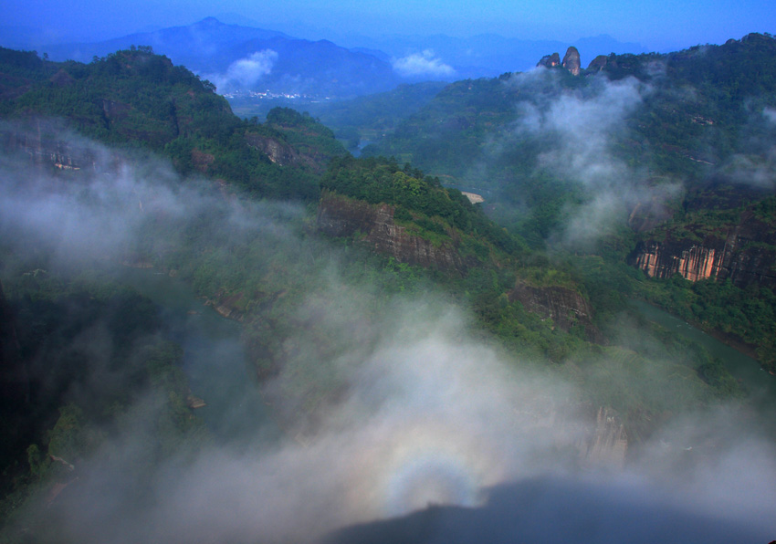
<instances>
[{"instance_id":1,"label":"hazy blue distant peak with small village at its foot","mask_svg":"<svg viewBox=\"0 0 776 544\"><path fill-rule=\"evenodd\" d=\"M213 81L220 93L268 90L342 99L392 89L401 81L389 62L368 53L328 40L225 25L214 17L107 42L46 47L46 52L55 60L89 62L131 46L152 47L176 65Z\"/></svg>"}]
</instances>

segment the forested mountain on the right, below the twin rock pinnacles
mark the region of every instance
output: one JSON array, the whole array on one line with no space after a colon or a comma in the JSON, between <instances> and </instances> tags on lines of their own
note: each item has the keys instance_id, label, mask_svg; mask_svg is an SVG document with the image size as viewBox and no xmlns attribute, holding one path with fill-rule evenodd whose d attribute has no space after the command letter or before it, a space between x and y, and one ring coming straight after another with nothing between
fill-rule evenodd
<instances>
[{"instance_id":1,"label":"forested mountain on the right, below the twin rock pinnacles","mask_svg":"<svg viewBox=\"0 0 776 544\"><path fill-rule=\"evenodd\" d=\"M558 65L458 81L366 151L486 194L491 216L531 246L590 255L581 270L603 252L651 277L699 281L674 281L671 298L660 284L633 289L650 286L655 301L771 364L770 304L753 302L771 300L776 256L765 211L775 55L776 40L754 34L602 56L579 76Z\"/></svg>"}]
</instances>

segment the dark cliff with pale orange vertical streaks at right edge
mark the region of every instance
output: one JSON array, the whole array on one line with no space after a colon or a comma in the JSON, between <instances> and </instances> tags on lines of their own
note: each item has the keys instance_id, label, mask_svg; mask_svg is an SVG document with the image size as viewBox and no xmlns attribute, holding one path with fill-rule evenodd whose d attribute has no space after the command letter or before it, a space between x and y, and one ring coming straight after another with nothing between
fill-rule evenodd
<instances>
[{"instance_id":1,"label":"dark cliff with pale orange vertical streaks at right edge","mask_svg":"<svg viewBox=\"0 0 776 544\"><path fill-rule=\"evenodd\" d=\"M739 225L697 241L675 239L640 242L628 258L649 277L681 275L690 281L730 279L739 287L757 283L776 287L776 233L752 214Z\"/></svg>"}]
</instances>

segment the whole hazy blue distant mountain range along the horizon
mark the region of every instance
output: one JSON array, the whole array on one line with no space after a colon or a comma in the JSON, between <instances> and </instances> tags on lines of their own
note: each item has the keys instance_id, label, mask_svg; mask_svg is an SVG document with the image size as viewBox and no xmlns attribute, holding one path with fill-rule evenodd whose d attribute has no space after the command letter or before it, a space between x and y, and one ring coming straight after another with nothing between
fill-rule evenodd
<instances>
[{"instance_id":1,"label":"whole hazy blue distant mountain range along the horizon","mask_svg":"<svg viewBox=\"0 0 776 544\"><path fill-rule=\"evenodd\" d=\"M189 26L163 28L97 43L40 47L53 60L89 62L118 49L150 46L216 84L221 93L270 91L310 98L349 98L393 89L399 83L479 78L525 70L561 42L482 35L470 38L350 37L350 46L310 41L282 32L225 25L208 17ZM583 53L639 52L638 44L611 37L575 42Z\"/></svg>"}]
</instances>

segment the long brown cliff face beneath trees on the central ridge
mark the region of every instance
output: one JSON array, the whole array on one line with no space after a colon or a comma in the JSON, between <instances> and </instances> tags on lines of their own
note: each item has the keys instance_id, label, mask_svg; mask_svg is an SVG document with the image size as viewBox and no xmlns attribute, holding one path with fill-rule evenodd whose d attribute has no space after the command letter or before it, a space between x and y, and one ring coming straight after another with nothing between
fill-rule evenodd
<instances>
[{"instance_id":1,"label":"long brown cliff face beneath trees on the central ridge","mask_svg":"<svg viewBox=\"0 0 776 544\"><path fill-rule=\"evenodd\" d=\"M450 243L435 245L425 238L407 232L393 221L394 208L388 204L368 204L363 201L324 194L318 207L318 228L332 236L352 236L361 233L363 240L375 251L393 256L401 263L420 267L436 267L461 274L470 266Z\"/></svg>"}]
</instances>

